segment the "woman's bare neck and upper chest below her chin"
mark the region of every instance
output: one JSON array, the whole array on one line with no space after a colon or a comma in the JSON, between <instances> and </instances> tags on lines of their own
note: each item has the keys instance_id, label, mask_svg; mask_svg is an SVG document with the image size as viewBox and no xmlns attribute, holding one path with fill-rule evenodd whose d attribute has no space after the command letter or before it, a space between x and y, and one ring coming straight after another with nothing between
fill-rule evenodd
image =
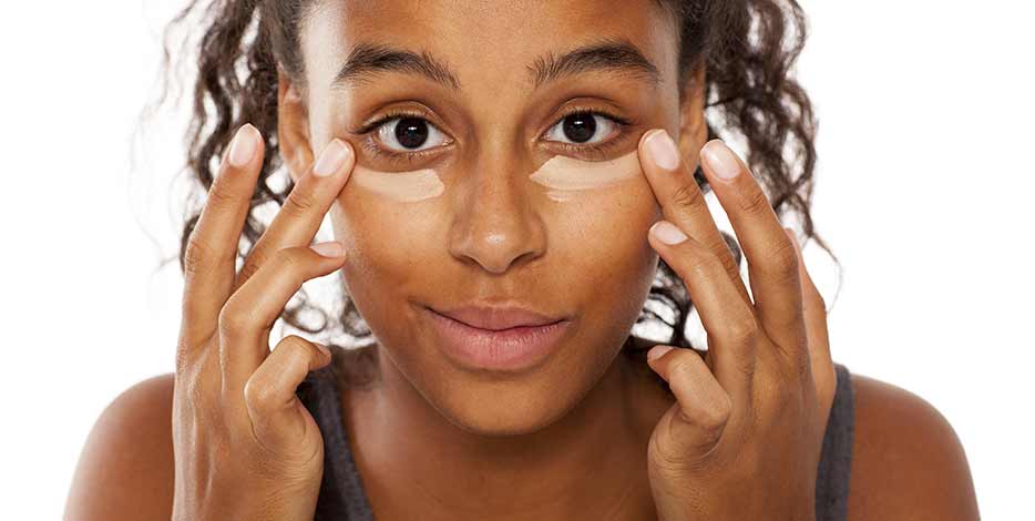
<instances>
[{"instance_id":1,"label":"woman's bare neck and upper chest below her chin","mask_svg":"<svg viewBox=\"0 0 1035 521\"><path fill-rule=\"evenodd\" d=\"M522 436L458 428L387 357L344 390L348 435L378 519L654 519L647 441L670 401L622 355L557 421ZM649 376L649 375L648 375Z\"/></svg>"}]
</instances>

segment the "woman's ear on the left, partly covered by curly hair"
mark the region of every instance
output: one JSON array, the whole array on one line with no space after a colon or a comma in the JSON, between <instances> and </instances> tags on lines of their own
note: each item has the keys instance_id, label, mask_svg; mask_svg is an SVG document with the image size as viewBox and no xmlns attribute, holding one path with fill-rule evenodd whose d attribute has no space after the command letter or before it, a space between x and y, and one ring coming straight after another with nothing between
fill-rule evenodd
<instances>
[{"instance_id":1,"label":"woman's ear on the left, partly covered by curly hair","mask_svg":"<svg viewBox=\"0 0 1035 521\"><path fill-rule=\"evenodd\" d=\"M309 145L309 111L288 74L277 67L277 143L291 181L298 180L312 165Z\"/></svg>"}]
</instances>

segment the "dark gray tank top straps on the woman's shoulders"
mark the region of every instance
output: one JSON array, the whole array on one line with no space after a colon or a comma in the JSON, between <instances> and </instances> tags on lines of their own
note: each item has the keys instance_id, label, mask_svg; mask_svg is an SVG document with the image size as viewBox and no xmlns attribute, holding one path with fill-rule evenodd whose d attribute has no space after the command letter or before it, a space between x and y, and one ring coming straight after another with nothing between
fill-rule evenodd
<instances>
[{"instance_id":1,"label":"dark gray tank top straps on the woman's shoulders","mask_svg":"<svg viewBox=\"0 0 1035 521\"><path fill-rule=\"evenodd\" d=\"M324 436L324 480L314 521L371 521L373 512L349 450L334 366L310 371L297 392ZM823 435L816 479L817 521L844 521L848 517L854 403L851 374L840 364L834 364L834 368L838 374L837 391Z\"/></svg>"}]
</instances>

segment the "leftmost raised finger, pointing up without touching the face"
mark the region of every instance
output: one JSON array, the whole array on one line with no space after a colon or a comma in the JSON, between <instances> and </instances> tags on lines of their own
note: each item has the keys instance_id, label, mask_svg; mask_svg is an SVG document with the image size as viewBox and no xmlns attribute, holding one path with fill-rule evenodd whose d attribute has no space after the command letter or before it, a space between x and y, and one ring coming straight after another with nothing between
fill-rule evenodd
<instances>
[{"instance_id":1,"label":"leftmost raised finger, pointing up without touching the face","mask_svg":"<svg viewBox=\"0 0 1035 521\"><path fill-rule=\"evenodd\" d=\"M252 124L237 130L180 259L184 273L181 337L186 346L215 331L219 309L230 295L237 242L265 155L260 137Z\"/></svg>"}]
</instances>

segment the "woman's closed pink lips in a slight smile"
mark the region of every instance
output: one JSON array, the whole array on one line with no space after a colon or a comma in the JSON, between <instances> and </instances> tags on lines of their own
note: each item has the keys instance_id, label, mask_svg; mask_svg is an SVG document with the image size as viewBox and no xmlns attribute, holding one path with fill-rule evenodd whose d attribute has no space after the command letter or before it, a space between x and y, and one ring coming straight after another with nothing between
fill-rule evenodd
<instances>
[{"instance_id":1,"label":"woman's closed pink lips in a slight smile","mask_svg":"<svg viewBox=\"0 0 1035 521\"><path fill-rule=\"evenodd\" d=\"M513 307L423 309L438 337L435 345L453 362L475 371L522 372L539 366L556 350L572 323Z\"/></svg>"}]
</instances>

